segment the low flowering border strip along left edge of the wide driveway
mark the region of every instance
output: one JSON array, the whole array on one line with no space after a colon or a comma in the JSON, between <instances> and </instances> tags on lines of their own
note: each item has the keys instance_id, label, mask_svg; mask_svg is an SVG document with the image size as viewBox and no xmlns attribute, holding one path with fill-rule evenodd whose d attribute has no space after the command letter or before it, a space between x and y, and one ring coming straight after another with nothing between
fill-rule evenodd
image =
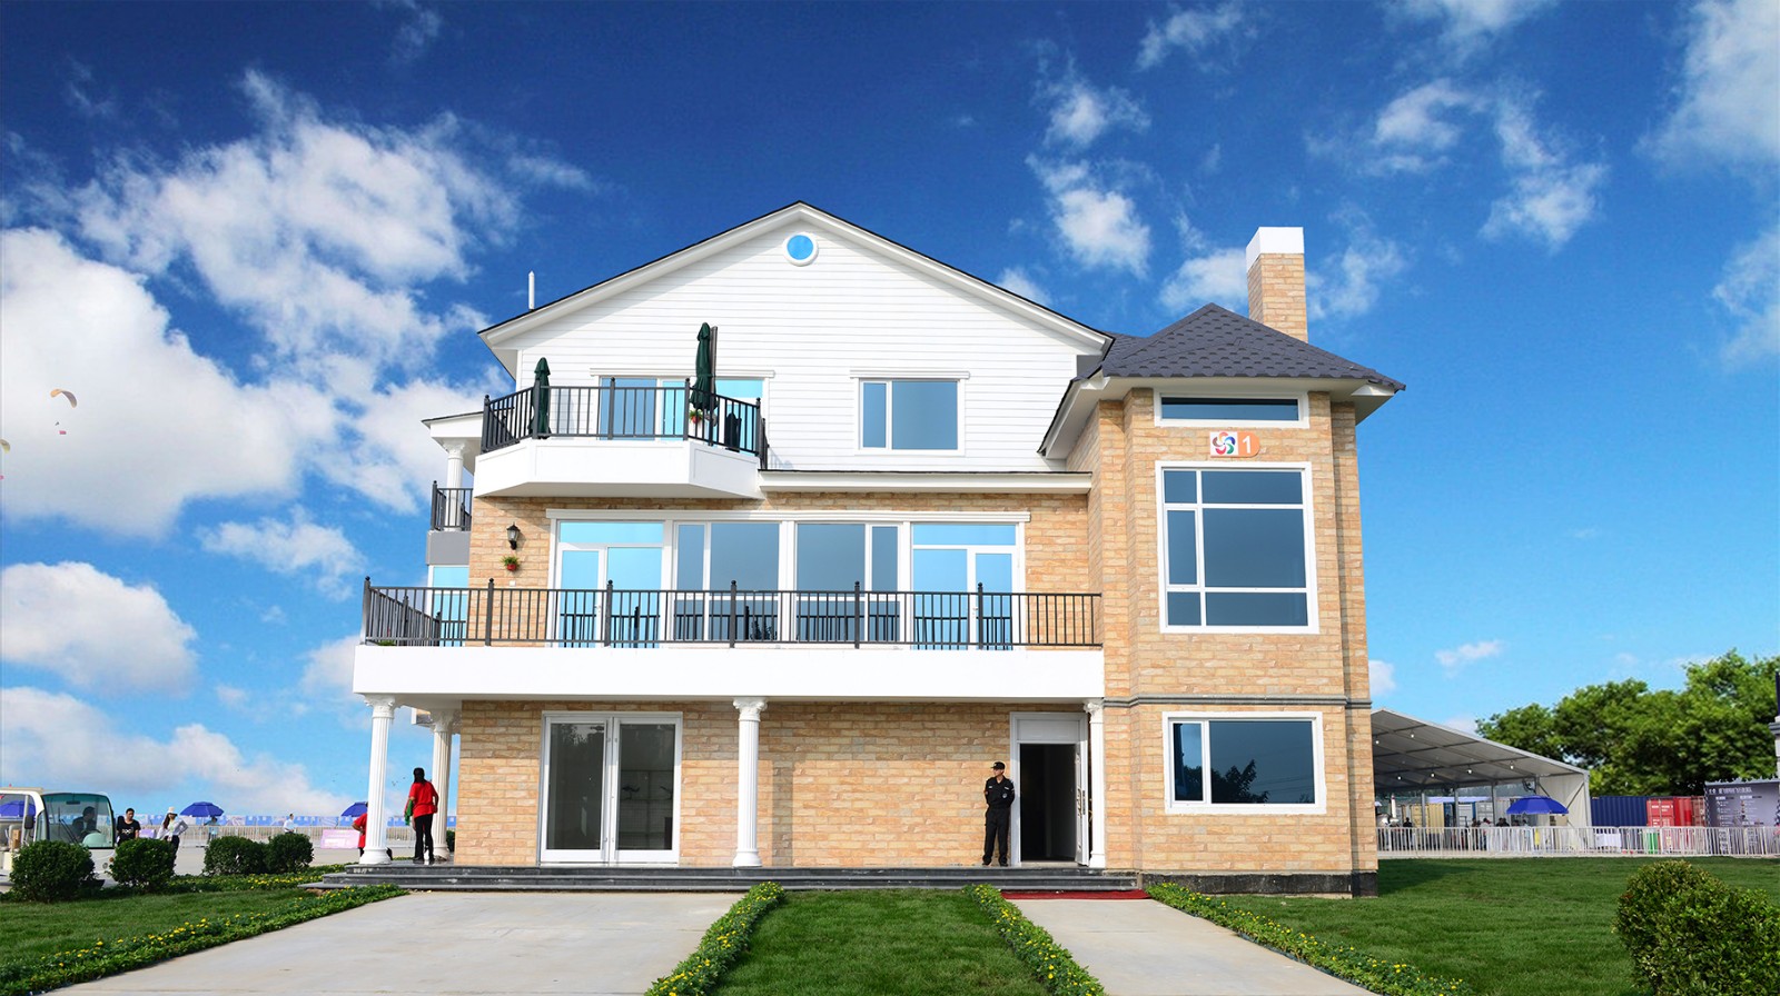
<instances>
[{"instance_id":1,"label":"low flowering border strip along left edge of the wide driveway","mask_svg":"<svg viewBox=\"0 0 1780 996\"><path fill-rule=\"evenodd\" d=\"M295 898L290 898L269 911L239 912L214 920L205 916L198 921L189 920L178 927L155 934L94 941L85 948L57 952L36 959L9 960L0 964L0 996L25 996L28 992L43 992L46 989L57 989L75 982L91 982L119 971L146 968L178 955L189 955L192 952L215 948L244 937L255 937L269 930L290 927L294 923L315 920L331 912L399 896L404 891L397 886L367 886L320 895L299 893ZM85 904L55 904L55 907ZM36 907L32 912L55 907Z\"/></svg>"}]
</instances>

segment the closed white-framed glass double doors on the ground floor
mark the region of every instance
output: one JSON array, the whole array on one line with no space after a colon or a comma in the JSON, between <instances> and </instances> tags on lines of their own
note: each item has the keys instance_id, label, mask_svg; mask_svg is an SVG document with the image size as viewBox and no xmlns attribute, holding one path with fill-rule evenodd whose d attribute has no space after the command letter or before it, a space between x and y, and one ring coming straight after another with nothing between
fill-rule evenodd
<instances>
[{"instance_id":1,"label":"closed white-framed glass double doors on the ground floor","mask_svg":"<svg viewBox=\"0 0 1780 996\"><path fill-rule=\"evenodd\" d=\"M673 863L678 790L678 717L546 715L538 857Z\"/></svg>"}]
</instances>

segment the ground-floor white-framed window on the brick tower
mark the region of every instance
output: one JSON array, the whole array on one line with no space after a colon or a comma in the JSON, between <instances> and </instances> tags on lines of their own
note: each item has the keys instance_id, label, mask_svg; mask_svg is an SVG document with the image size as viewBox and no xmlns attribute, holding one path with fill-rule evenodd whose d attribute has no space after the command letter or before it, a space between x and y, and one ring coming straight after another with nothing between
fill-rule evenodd
<instances>
[{"instance_id":1,"label":"ground-floor white-framed window on the brick tower","mask_svg":"<svg viewBox=\"0 0 1780 996\"><path fill-rule=\"evenodd\" d=\"M1321 809L1323 795L1317 717L1168 717L1169 809Z\"/></svg>"}]
</instances>

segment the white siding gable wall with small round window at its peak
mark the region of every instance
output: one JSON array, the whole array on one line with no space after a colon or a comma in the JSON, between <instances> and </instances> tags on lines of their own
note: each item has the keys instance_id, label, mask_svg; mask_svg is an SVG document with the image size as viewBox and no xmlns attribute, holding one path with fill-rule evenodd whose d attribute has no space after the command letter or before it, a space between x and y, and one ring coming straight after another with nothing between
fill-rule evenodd
<instances>
[{"instance_id":1,"label":"white siding gable wall with small round window at its peak","mask_svg":"<svg viewBox=\"0 0 1780 996\"><path fill-rule=\"evenodd\" d=\"M785 260L808 231L813 263ZM1061 470L1038 455L1075 357L1095 352L876 251L821 229L764 231L712 258L516 338L520 384L689 377L698 325L717 334L719 377L767 377L774 470ZM862 452L858 377L965 375L961 450Z\"/></svg>"}]
</instances>

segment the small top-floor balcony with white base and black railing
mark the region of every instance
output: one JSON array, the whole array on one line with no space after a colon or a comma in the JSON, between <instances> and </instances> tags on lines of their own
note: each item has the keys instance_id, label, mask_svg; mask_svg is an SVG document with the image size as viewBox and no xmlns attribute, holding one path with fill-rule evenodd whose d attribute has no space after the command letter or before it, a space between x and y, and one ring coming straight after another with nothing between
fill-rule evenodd
<instances>
[{"instance_id":1,"label":"small top-floor balcony with white base and black railing","mask_svg":"<svg viewBox=\"0 0 1780 996\"><path fill-rule=\"evenodd\" d=\"M760 406L691 382L527 388L482 400L481 496L758 498Z\"/></svg>"}]
</instances>

